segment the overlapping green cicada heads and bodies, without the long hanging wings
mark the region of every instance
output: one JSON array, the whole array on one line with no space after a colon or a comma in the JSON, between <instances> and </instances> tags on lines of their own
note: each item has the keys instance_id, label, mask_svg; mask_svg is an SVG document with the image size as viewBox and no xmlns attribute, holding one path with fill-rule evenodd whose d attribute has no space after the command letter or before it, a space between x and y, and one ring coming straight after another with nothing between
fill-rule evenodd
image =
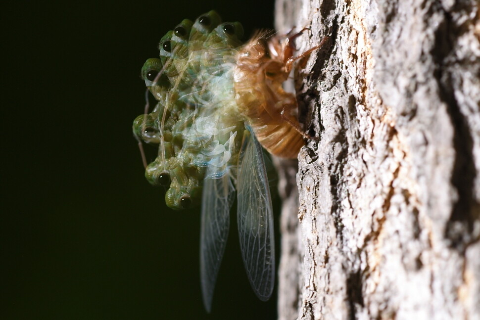
<instances>
[{"instance_id":1,"label":"overlapping green cicada heads and bodies, without the long hanging wings","mask_svg":"<svg viewBox=\"0 0 480 320\"><path fill-rule=\"evenodd\" d=\"M167 32L160 58L144 63L142 77L158 103L135 119L134 134L160 144L145 176L168 187L170 208L199 204L207 167L210 176L235 171L244 128L235 113L232 70L242 35L240 23L220 23L210 11Z\"/></svg>"}]
</instances>

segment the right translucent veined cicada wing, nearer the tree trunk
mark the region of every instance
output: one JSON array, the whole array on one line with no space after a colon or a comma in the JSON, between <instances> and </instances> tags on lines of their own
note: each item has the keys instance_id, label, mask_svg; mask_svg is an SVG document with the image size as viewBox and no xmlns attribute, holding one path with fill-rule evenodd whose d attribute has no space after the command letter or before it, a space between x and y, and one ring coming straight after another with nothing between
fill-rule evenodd
<instances>
[{"instance_id":1,"label":"right translucent veined cicada wing, nearer the tree trunk","mask_svg":"<svg viewBox=\"0 0 480 320\"><path fill-rule=\"evenodd\" d=\"M240 248L257 297L270 298L275 282L273 209L262 147L247 126L237 177Z\"/></svg>"}]
</instances>

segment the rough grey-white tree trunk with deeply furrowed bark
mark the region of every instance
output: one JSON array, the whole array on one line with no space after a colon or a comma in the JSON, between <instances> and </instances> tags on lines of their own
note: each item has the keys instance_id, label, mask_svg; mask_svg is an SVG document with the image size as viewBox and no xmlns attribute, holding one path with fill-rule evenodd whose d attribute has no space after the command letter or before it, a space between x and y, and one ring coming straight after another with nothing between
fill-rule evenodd
<instances>
[{"instance_id":1,"label":"rough grey-white tree trunk with deeply furrowed bark","mask_svg":"<svg viewBox=\"0 0 480 320\"><path fill-rule=\"evenodd\" d=\"M296 75L319 139L282 213L279 318L480 319L479 1L278 0L276 19L311 29L300 53L329 37Z\"/></svg>"}]
</instances>

